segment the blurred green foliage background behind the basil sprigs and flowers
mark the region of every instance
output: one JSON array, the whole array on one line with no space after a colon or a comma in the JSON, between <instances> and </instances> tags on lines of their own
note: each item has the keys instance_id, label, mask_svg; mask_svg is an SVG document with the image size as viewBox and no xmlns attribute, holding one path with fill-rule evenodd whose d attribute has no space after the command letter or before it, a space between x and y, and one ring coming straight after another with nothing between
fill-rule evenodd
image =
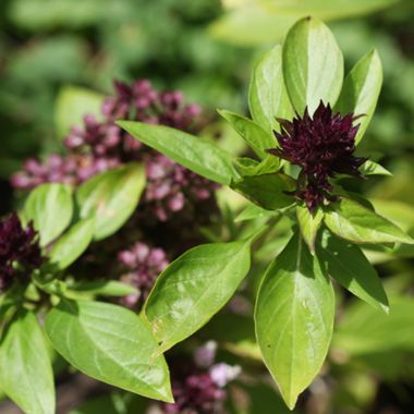
<instances>
[{"instance_id":1,"label":"blurred green foliage background behind the basil sprigs and flowers","mask_svg":"<svg viewBox=\"0 0 414 414\"><path fill-rule=\"evenodd\" d=\"M383 88L361 153L393 176L354 190L413 234L413 0L2 0L0 212L13 205L9 178L25 158L62 151L57 119L71 115L69 87L110 94L113 78L148 78L182 89L211 114L246 112L255 59L307 14L328 20L346 70L379 51ZM226 145L238 144L229 137ZM319 403L307 413L414 413L414 252L369 255L395 306L387 318L343 297L328 380L314 385L319 397L310 401ZM273 390L251 388L251 404L229 410L284 412Z\"/></svg>"}]
</instances>

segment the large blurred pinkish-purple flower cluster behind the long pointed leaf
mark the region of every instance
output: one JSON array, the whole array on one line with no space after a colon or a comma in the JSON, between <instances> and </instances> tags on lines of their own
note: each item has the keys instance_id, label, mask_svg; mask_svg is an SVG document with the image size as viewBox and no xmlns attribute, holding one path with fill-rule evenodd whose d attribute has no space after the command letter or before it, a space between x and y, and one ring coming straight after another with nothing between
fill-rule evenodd
<instances>
[{"instance_id":1,"label":"large blurred pinkish-purple flower cluster behind the long pointed leaf","mask_svg":"<svg viewBox=\"0 0 414 414\"><path fill-rule=\"evenodd\" d=\"M102 121L88 114L83 126L72 127L64 141L66 156L51 155L45 162L28 159L23 171L13 175L12 185L21 190L45 182L78 185L123 162L142 160L148 179L143 200L157 220L167 221L186 204L211 199L216 184L149 149L114 123L127 119L196 132L200 127L199 107L185 105L180 92L158 93L148 81L131 86L115 82L114 87L115 95L102 104Z\"/></svg>"}]
</instances>

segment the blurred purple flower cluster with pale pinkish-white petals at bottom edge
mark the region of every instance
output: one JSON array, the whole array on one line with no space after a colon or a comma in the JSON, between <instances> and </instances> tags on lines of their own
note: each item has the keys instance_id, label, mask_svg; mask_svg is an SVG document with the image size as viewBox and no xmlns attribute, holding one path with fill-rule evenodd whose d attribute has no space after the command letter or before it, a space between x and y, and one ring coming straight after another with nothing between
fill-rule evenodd
<instances>
[{"instance_id":1,"label":"blurred purple flower cluster with pale pinkish-white petals at bottom edge","mask_svg":"<svg viewBox=\"0 0 414 414\"><path fill-rule=\"evenodd\" d=\"M211 365L216 356L217 344L207 342L194 354L194 366L186 365L172 380L172 393L175 402L163 404L166 414L220 414L227 398L224 387L240 374L239 366L224 363ZM180 372L179 369L176 372Z\"/></svg>"}]
</instances>

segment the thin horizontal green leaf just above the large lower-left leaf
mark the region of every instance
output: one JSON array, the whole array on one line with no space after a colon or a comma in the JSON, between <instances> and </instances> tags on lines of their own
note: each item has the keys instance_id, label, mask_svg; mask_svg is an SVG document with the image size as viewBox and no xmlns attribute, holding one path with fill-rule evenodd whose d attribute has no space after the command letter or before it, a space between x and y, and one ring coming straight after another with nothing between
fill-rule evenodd
<instances>
[{"instance_id":1,"label":"thin horizontal green leaf just above the large lower-left leaf","mask_svg":"<svg viewBox=\"0 0 414 414\"><path fill-rule=\"evenodd\" d=\"M126 296L136 293L136 288L131 284L122 283L118 280L93 280L77 282L68 288L69 295L78 296Z\"/></svg>"}]
</instances>

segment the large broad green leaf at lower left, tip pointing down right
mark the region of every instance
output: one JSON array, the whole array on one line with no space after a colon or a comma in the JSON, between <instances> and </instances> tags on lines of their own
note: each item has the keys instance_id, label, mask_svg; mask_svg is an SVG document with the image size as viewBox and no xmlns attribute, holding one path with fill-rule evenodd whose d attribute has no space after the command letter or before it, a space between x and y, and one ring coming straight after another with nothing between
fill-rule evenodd
<instances>
[{"instance_id":1,"label":"large broad green leaf at lower left, tip pointing down right","mask_svg":"<svg viewBox=\"0 0 414 414\"><path fill-rule=\"evenodd\" d=\"M75 368L137 394L172 402L163 356L133 312L108 303L61 301L46 317L54 349Z\"/></svg>"}]
</instances>

